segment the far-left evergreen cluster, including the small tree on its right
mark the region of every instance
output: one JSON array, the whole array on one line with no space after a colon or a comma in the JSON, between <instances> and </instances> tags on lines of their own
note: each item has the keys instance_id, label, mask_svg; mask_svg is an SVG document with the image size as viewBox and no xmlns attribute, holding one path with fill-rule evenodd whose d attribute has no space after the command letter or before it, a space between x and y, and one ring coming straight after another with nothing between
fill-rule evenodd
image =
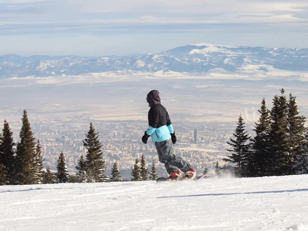
<instances>
[{"instance_id":1,"label":"far-left evergreen cluster, including the small tree on its right","mask_svg":"<svg viewBox=\"0 0 308 231\"><path fill-rule=\"evenodd\" d=\"M43 167L40 141L35 141L27 111L23 111L17 144L6 120L0 133L0 185L68 182L69 174L63 153L59 155L56 173Z\"/></svg>"}]
</instances>

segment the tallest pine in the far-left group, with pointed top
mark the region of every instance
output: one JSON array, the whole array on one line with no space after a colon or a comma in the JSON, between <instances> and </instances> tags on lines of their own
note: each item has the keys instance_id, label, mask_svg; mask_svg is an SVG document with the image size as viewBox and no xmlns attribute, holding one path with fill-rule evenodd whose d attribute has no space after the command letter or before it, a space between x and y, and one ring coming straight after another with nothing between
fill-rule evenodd
<instances>
[{"instance_id":1,"label":"tallest pine in the far-left group, with pointed top","mask_svg":"<svg viewBox=\"0 0 308 231\"><path fill-rule=\"evenodd\" d=\"M22 127L16 151L16 173L19 184L33 184L33 163L35 157L35 138L28 120L27 111L23 111Z\"/></svg>"}]
</instances>

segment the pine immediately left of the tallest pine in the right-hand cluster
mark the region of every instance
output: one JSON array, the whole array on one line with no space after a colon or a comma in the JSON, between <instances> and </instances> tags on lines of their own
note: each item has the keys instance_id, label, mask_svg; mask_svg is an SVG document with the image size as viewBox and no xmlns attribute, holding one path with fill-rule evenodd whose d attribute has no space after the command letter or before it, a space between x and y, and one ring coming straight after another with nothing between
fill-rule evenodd
<instances>
[{"instance_id":1,"label":"pine immediately left of the tallest pine in the right-hand cluster","mask_svg":"<svg viewBox=\"0 0 308 231\"><path fill-rule=\"evenodd\" d=\"M270 116L265 99L262 99L261 108L258 110L260 117L255 123L253 131L255 136L251 139L251 176L265 176L269 165L269 129Z\"/></svg>"}]
</instances>

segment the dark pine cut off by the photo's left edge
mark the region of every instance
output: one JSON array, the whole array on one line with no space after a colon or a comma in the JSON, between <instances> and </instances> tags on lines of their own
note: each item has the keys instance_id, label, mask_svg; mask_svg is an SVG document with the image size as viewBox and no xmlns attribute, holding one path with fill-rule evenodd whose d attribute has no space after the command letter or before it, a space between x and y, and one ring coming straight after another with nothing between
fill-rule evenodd
<instances>
[{"instance_id":1,"label":"dark pine cut off by the photo's left edge","mask_svg":"<svg viewBox=\"0 0 308 231\"><path fill-rule=\"evenodd\" d=\"M9 184L15 183L15 151L13 142L13 133L10 131L9 125L4 120L2 135L0 135L0 162L3 163L7 171L7 180Z\"/></svg>"}]
</instances>

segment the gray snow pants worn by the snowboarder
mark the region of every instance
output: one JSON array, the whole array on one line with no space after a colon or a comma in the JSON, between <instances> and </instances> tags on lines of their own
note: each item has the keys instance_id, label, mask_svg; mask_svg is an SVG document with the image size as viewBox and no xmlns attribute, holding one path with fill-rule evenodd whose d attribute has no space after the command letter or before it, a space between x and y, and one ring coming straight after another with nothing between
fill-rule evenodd
<instances>
[{"instance_id":1,"label":"gray snow pants worn by the snowboarder","mask_svg":"<svg viewBox=\"0 0 308 231\"><path fill-rule=\"evenodd\" d=\"M171 140L155 142L159 161L165 164L167 172L176 172L181 169L182 172L187 172L191 166L180 156L173 154Z\"/></svg>"}]
</instances>

